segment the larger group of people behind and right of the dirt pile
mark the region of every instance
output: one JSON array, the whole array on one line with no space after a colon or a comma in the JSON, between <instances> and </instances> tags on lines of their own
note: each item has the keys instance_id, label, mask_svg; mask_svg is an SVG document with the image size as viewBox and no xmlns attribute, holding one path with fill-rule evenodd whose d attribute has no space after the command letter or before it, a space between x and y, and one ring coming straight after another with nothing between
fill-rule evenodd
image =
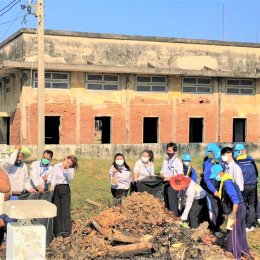
<instances>
[{"instance_id":1,"label":"larger group of people behind and right of the dirt pile","mask_svg":"<svg viewBox=\"0 0 260 260\"><path fill-rule=\"evenodd\" d=\"M175 143L167 144L166 153L160 171L166 207L180 217L180 224L190 228L206 220L209 229L219 236L224 225L228 251L236 259L250 256L246 233L260 224L258 170L244 145L220 149L215 143L208 144L200 183L189 154L183 154L181 161ZM144 150L132 174L124 155L116 154L109 170L113 197L127 196L129 190L135 191L137 182L155 176L153 161L153 152Z\"/></svg>"}]
</instances>

